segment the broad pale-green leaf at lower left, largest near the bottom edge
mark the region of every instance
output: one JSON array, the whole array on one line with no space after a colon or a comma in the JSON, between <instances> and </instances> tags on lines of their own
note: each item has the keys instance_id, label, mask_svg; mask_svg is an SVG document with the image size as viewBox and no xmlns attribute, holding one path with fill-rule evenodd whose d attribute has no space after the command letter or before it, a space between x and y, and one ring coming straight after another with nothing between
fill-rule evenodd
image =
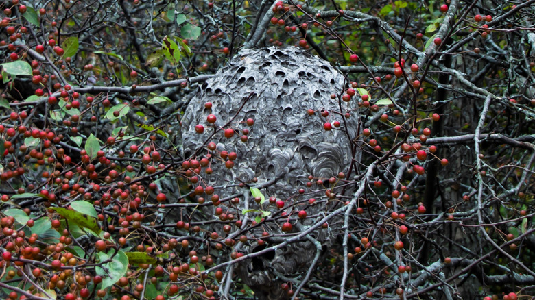
<instances>
[{"instance_id":1,"label":"broad pale-green leaf at lower left, largest near the bottom edge","mask_svg":"<svg viewBox=\"0 0 535 300\"><path fill-rule=\"evenodd\" d=\"M119 250L115 256L111 252L112 251L110 251L110 253L97 253L99 262L105 262L113 256L111 262L106 262L105 264L102 264L102 267L97 266L95 268L97 275L102 276L101 290L115 284L119 281L119 278L123 277L126 274L126 271L128 271L128 256L121 250Z\"/></svg>"}]
</instances>

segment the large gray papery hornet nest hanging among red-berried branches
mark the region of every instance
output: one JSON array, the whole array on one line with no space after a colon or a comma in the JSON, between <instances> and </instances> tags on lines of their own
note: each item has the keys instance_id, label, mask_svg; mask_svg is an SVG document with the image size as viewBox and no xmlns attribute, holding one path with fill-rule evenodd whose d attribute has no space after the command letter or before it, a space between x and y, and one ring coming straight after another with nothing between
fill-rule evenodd
<instances>
[{"instance_id":1,"label":"large gray papery hornet nest hanging among red-berried branches","mask_svg":"<svg viewBox=\"0 0 535 300\"><path fill-rule=\"evenodd\" d=\"M238 157L235 166L228 170L222 162L214 159L211 166L213 173L201 173L203 180L211 186L221 187L240 182L252 184L253 177L257 177L258 182L252 185L277 178L275 184L261 191L266 199L275 196L283 201L296 195L299 188L308 191L305 184L309 181L309 175L315 179L329 178L341 171L348 171L352 159L350 138L357 136L358 114L354 107L348 107L344 102L342 112L351 111L351 117L346 119L345 125L343 116L333 114L333 111L340 112L340 106L337 99L331 99L331 94L340 95L343 87L344 77L329 62L296 47L244 49L228 66L205 82L189 103L182 118L185 158L202 147L206 138L213 133L206 116L215 114L217 127L234 118L230 124L230 127L237 129L233 138L225 138L220 131L209 141L217 144L218 151L236 152ZM204 108L209 101L213 103L211 110ZM313 116L307 114L309 109L316 111ZM329 111L327 118L320 115L322 110ZM248 118L254 119L252 127L245 123ZM339 121L341 126L325 131L323 124L326 121ZM198 124L204 125L204 134L195 133L195 125ZM245 128L250 129L250 134L247 142L241 142L241 130ZM198 153L206 155L206 149ZM248 192L248 188L216 190L221 198L240 191ZM307 197L293 197L289 201ZM316 194L316 197L320 195ZM252 197L248 199L249 208L259 208ZM244 205L241 199L239 209L243 209ZM324 209L324 206L320 206L307 208L307 213L311 215L317 213L315 209ZM269 210L276 212L277 209L270 205ZM307 221L310 223L313 220ZM305 222L304 225L309 223ZM281 233L279 225L269 224L271 234ZM257 232L254 234L258 236ZM328 237L323 235L315 236L324 242ZM244 250L253 251L252 246ZM243 282L255 290L257 297L281 299L281 282L273 280L276 275L271 270L291 277L296 272L306 271L315 253L316 247L304 240L278 249L275 255L264 255L260 260L255 260L254 265L252 261L242 264L239 275Z\"/></svg>"}]
</instances>

